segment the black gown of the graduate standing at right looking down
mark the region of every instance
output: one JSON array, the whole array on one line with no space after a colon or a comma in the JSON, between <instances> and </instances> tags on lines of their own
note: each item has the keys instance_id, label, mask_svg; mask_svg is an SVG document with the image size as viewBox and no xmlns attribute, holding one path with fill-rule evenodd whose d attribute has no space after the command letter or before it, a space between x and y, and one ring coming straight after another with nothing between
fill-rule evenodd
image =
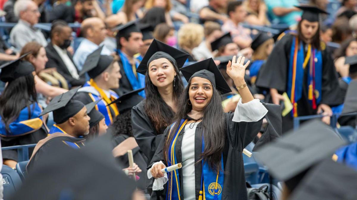
<instances>
[{"instance_id":1,"label":"black gown of the graduate standing at right looking down","mask_svg":"<svg viewBox=\"0 0 357 200\"><path fill-rule=\"evenodd\" d=\"M267 59L265 65L262 65L256 86L261 88L275 88L280 94L286 92L288 81L288 67L290 58L290 51L292 40L295 36L287 34L275 44L275 47ZM305 44L304 44L305 46ZM338 87L338 76L333 64L331 52L328 47L321 50L322 53L322 89L320 104L327 104L329 106L337 106L342 104L343 98L340 95ZM304 54L306 51L304 49ZM302 96L297 101L297 114L298 116L315 115L317 109L312 109L308 103L307 95L307 76L308 68L304 70L304 81ZM290 114L283 117L283 132L293 127L293 120Z\"/></svg>"}]
</instances>

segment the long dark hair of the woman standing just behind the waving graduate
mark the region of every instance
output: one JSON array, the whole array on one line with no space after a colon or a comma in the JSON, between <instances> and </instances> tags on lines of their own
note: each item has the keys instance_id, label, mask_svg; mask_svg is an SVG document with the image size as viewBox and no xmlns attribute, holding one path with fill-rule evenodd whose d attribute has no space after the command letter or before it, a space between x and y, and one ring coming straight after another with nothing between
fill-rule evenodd
<instances>
[{"instance_id":1,"label":"long dark hair of the woman standing just behind the waving graduate","mask_svg":"<svg viewBox=\"0 0 357 200\"><path fill-rule=\"evenodd\" d=\"M174 65L176 72L176 79L172 84L175 83L173 95L175 101L177 102L178 97L181 95L183 90L183 83L177 65L172 62L171 64ZM157 87L152 84L149 77L149 70L147 70L145 75L145 95L145 112L147 116L149 116L157 135L162 134L165 128L172 123L175 114L171 107L167 105L166 102L161 98Z\"/></svg>"}]
</instances>

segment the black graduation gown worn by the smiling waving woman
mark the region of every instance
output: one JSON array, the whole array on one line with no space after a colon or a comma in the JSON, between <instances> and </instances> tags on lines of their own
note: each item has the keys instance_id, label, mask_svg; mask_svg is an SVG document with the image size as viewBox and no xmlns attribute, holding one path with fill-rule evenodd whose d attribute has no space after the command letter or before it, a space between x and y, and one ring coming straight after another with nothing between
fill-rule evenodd
<instances>
[{"instance_id":1,"label":"black graduation gown worn by the smiling waving woman","mask_svg":"<svg viewBox=\"0 0 357 200\"><path fill-rule=\"evenodd\" d=\"M254 137L258 134L262 125L262 120L257 122L233 122L234 113L229 112L225 114L226 123L226 145L223 151L223 167L225 171L222 200L246 200L247 188L244 173L244 163L242 152L243 149L253 141ZM169 133L170 126L166 128L164 138L160 142L154 157L151 160L151 165L160 160L164 160L163 145ZM182 162L181 144L184 129L180 132L176 141L176 159L177 163ZM197 125L195 132L195 162L200 159L202 151L202 132L203 128L201 123ZM151 168L151 165L148 167ZM167 165L167 163L165 163ZM180 174L180 185L183 184L182 169L178 169ZM201 185L202 164L198 162L195 165L195 190L196 200L198 200L200 185ZM183 200L183 187L181 187L181 199ZM154 191L151 199L165 199L166 184L164 190Z\"/></svg>"}]
</instances>

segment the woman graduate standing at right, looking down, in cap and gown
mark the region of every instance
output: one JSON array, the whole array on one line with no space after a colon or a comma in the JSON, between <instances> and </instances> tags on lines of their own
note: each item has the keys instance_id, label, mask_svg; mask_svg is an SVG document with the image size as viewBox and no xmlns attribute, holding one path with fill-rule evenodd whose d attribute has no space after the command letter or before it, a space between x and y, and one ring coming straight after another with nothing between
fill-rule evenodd
<instances>
[{"instance_id":1,"label":"woman graduate standing at right, looking down, in cap and gown","mask_svg":"<svg viewBox=\"0 0 357 200\"><path fill-rule=\"evenodd\" d=\"M290 98L293 109L283 117L283 132L293 127L293 117L331 116L331 106L343 101L331 53L320 41L319 13L326 12L314 6L298 7L303 14L297 33L288 33L276 43L256 82L270 89L274 104L283 100L284 92ZM330 123L330 117L323 121Z\"/></svg>"}]
</instances>

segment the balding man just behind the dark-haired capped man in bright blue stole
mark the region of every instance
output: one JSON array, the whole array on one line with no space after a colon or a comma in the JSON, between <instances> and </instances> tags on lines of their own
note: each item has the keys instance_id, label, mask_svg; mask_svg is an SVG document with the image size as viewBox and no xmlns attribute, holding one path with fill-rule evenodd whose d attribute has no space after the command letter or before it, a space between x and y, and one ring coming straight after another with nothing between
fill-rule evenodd
<instances>
[{"instance_id":1,"label":"balding man just behind the dark-haired capped man in bright blue stole","mask_svg":"<svg viewBox=\"0 0 357 200\"><path fill-rule=\"evenodd\" d=\"M110 15L105 20L105 27L107 29L107 36L103 41L104 46L109 49L111 52L115 52L116 49L116 40L115 40L115 31L114 28L125 23L124 20L119 15Z\"/></svg>"}]
</instances>

